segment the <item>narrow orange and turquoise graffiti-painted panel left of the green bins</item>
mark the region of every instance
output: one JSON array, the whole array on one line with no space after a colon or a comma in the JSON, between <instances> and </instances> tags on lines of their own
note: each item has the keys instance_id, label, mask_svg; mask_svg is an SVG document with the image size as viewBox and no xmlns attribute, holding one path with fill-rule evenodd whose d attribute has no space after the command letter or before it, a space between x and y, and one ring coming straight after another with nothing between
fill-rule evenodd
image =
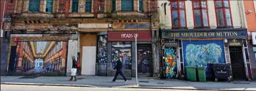
<instances>
[{"instance_id":1,"label":"narrow orange and turquoise graffiti-painted panel left of the green bins","mask_svg":"<svg viewBox=\"0 0 256 91\"><path fill-rule=\"evenodd\" d=\"M177 54L174 48L165 48L165 73L166 78L175 77L177 74Z\"/></svg>"}]
</instances>

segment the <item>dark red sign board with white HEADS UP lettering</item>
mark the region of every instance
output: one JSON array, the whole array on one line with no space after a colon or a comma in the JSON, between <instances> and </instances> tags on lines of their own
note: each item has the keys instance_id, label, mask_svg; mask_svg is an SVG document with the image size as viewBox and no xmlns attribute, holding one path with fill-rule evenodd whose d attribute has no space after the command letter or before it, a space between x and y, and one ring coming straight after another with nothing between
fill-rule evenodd
<instances>
[{"instance_id":1,"label":"dark red sign board with white HEADS UP lettering","mask_svg":"<svg viewBox=\"0 0 256 91\"><path fill-rule=\"evenodd\" d=\"M151 31L109 31L108 41L138 41L151 40Z\"/></svg>"}]
</instances>

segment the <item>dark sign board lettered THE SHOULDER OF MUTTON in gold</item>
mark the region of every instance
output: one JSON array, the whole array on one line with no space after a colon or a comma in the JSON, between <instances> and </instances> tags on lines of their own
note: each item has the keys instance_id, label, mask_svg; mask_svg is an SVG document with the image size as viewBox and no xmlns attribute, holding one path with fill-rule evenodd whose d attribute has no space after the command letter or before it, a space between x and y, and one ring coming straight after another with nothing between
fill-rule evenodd
<instances>
[{"instance_id":1,"label":"dark sign board lettered THE SHOULDER OF MUTTON in gold","mask_svg":"<svg viewBox=\"0 0 256 91\"><path fill-rule=\"evenodd\" d=\"M246 30L239 31L162 31L162 38L235 38L247 37Z\"/></svg>"}]
</instances>

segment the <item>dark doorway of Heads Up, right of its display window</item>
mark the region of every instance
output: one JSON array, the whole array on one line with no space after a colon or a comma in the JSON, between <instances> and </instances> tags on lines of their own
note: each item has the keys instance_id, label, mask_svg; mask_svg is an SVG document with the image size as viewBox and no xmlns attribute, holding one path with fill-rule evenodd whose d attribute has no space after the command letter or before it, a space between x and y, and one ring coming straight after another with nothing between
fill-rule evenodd
<instances>
[{"instance_id":1,"label":"dark doorway of Heads Up, right of its display window","mask_svg":"<svg viewBox=\"0 0 256 91\"><path fill-rule=\"evenodd\" d=\"M150 44L138 44L137 60L138 60L138 76L152 76L152 49Z\"/></svg>"}]
</instances>

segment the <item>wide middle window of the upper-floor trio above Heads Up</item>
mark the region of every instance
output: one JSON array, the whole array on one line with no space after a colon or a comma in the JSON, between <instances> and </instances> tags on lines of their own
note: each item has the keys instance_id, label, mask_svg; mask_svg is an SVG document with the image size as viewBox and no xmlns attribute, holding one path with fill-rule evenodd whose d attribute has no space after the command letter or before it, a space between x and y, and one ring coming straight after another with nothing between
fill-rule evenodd
<instances>
[{"instance_id":1,"label":"wide middle window of the upper-floor trio above Heads Up","mask_svg":"<svg viewBox=\"0 0 256 91\"><path fill-rule=\"evenodd\" d=\"M134 0L122 0L121 8L122 8L122 11L133 11L134 10Z\"/></svg>"}]
</instances>

